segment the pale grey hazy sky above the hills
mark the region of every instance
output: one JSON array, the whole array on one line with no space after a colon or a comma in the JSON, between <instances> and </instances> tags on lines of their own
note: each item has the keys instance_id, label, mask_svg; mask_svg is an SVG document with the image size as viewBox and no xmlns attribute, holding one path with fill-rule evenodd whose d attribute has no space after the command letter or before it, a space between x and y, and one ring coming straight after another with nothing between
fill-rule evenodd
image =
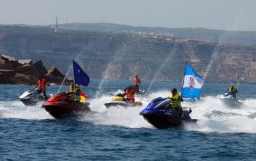
<instances>
[{"instance_id":1,"label":"pale grey hazy sky above the hills","mask_svg":"<svg viewBox=\"0 0 256 161\"><path fill-rule=\"evenodd\" d=\"M0 24L109 22L256 31L256 0L0 0Z\"/></svg>"}]
</instances>

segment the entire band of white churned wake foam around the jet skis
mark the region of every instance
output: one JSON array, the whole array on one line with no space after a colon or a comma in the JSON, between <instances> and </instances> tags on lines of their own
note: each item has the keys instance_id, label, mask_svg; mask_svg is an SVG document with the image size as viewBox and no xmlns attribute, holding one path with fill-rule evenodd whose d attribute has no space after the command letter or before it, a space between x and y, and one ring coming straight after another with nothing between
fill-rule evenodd
<instances>
[{"instance_id":1,"label":"entire band of white churned wake foam around the jet skis","mask_svg":"<svg viewBox=\"0 0 256 161\"><path fill-rule=\"evenodd\" d=\"M90 101L94 114L87 114L82 121L90 121L95 125L118 125L129 128L154 128L140 116L140 111L145 108L153 98L157 96L167 97L169 91L157 91L146 96L137 96L143 103L140 107L110 107L106 109L104 104L114 96L103 95ZM191 118L198 119L195 124L186 124L185 130L200 132L256 133L256 100L247 99L240 101L239 107L229 107L221 102L220 96L206 96L201 100L182 102L183 107L191 107ZM42 104L42 103L41 103ZM3 118L22 119L52 119L41 104L35 106L23 105L20 101L0 102L0 116Z\"/></svg>"}]
</instances>

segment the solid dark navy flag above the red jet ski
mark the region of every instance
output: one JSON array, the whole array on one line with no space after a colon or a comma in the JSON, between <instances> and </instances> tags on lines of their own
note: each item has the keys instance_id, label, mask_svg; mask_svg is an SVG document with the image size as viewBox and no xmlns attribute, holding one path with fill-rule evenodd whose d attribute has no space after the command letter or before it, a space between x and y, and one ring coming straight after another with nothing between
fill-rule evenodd
<instances>
[{"instance_id":1,"label":"solid dark navy flag above the red jet ski","mask_svg":"<svg viewBox=\"0 0 256 161\"><path fill-rule=\"evenodd\" d=\"M88 86L90 82L90 77L83 71L83 69L76 63L76 61L73 60L72 62L75 84Z\"/></svg>"}]
</instances>

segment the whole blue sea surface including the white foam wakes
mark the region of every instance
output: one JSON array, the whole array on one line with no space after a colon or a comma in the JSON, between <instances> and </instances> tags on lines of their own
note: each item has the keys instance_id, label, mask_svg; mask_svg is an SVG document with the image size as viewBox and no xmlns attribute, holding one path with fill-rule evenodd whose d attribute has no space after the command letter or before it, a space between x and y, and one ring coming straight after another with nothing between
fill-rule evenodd
<instances>
[{"instance_id":1,"label":"whole blue sea surface including the white foam wakes","mask_svg":"<svg viewBox=\"0 0 256 161\"><path fill-rule=\"evenodd\" d=\"M159 130L139 113L181 83L142 82L147 91L137 97L142 107L107 110L104 103L131 83L92 80L83 91L97 113L59 120L42 109L42 102L20 102L33 86L0 85L0 160L256 160L256 84L242 83L240 104L229 104L220 97L230 83L205 83L201 100L182 102L199 121ZM47 93L59 88L48 87Z\"/></svg>"}]
</instances>

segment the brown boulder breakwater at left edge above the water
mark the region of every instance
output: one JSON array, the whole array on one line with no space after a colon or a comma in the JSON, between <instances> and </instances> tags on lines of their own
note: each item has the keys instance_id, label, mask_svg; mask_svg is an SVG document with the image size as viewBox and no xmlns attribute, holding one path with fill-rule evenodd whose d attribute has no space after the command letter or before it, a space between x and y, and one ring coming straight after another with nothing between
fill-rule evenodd
<instances>
[{"instance_id":1,"label":"brown boulder breakwater at left edge above the water","mask_svg":"<svg viewBox=\"0 0 256 161\"><path fill-rule=\"evenodd\" d=\"M52 65L47 69L41 60L33 63L32 59L15 59L0 54L0 84L35 84L41 76L55 84L61 84L65 77L57 66ZM72 78L68 77L65 83L70 82Z\"/></svg>"}]
</instances>

